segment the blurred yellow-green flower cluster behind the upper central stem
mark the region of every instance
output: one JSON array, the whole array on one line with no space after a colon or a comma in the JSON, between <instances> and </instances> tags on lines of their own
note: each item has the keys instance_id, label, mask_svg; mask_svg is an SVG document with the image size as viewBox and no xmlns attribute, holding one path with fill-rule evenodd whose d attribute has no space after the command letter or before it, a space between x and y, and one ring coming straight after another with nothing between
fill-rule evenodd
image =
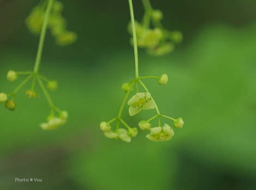
<instances>
[{"instance_id":1,"label":"blurred yellow-green flower cluster behind the upper central stem","mask_svg":"<svg viewBox=\"0 0 256 190\"><path fill-rule=\"evenodd\" d=\"M163 14L161 10L145 11L144 20L142 23L135 21L137 45L141 48L146 48L151 55L164 55L172 52L175 43L182 41L182 34L180 31L169 31L162 27L161 20ZM153 29L151 29L150 21ZM132 34L132 24L128 25L128 31ZM131 38L133 45L133 38Z\"/></svg>"}]
</instances>

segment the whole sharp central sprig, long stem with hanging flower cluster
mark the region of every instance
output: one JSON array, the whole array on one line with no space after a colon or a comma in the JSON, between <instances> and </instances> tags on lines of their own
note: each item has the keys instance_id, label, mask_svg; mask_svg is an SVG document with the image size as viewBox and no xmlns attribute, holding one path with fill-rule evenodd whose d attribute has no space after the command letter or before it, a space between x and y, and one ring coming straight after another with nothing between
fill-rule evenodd
<instances>
[{"instance_id":1,"label":"whole sharp central sprig, long stem with hanging flower cluster","mask_svg":"<svg viewBox=\"0 0 256 190\"><path fill-rule=\"evenodd\" d=\"M145 15L144 15L144 26L143 28L147 29L149 27L150 17L152 15L153 9L151 8L151 5L148 0L143 0L143 5L145 8ZM173 126L175 128L181 128L184 124L182 118L174 119L169 116L162 115L160 113L159 108L157 107L157 104L153 97L151 96L151 93L149 92L148 88L144 85L141 79L147 79L147 78L157 78L158 83L160 85L166 85L168 82L168 76L167 74L162 74L160 77L157 76L146 76L146 77L139 77L139 66L138 66L138 43L137 43L137 23L134 18L133 13L133 6L132 6L132 0L129 0L129 7L130 7L130 15L131 15L131 31L132 31L132 40L133 40L133 49L134 49L134 55L135 55L135 79L132 79L130 83L124 83L122 85L122 89L124 92L126 92L125 98L123 100L123 103L121 104L120 110L118 112L118 116L111 119L109 122L101 122L100 129L104 132L105 136L108 138L120 138L121 140L125 142L130 142L132 137L135 137L138 133L137 128L131 128L129 125L127 125L123 119L121 118L121 113L124 110L124 105L127 102L127 99L133 90L133 86L136 84L136 94L130 98L130 100L127 102L129 107L129 114L130 116L134 116L137 113L139 113L142 110L148 110L148 109L155 109L156 115L149 118L147 121L141 121L139 122L138 126L142 130L150 130L150 134L146 137L149 138L151 141L168 141L174 136L174 131L168 124L164 124L164 126L161 127L161 117L168 118L174 122ZM139 36L139 35L138 35ZM139 85L141 85L144 88L145 92L139 92ZM153 119L158 118L158 124L159 126L155 128L151 128L151 124L149 123ZM115 130L112 130L111 123L117 121L117 125ZM126 129L119 128L119 125L123 124Z\"/></svg>"}]
</instances>

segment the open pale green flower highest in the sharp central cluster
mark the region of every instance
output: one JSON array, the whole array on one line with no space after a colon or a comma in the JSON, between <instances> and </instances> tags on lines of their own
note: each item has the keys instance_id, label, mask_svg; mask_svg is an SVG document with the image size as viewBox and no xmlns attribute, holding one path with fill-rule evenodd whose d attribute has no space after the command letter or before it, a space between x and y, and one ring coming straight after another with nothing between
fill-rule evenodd
<instances>
[{"instance_id":1,"label":"open pale green flower highest in the sharp central cluster","mask_svg":"<svg viewBox=\"0 0 256 190\"><path fill-rule=\"evenodd\" d=\"M130 116L136 115L141 110L149 110L154 109L155 106L150 99L151 94L147 92L139 92L136 93L131 99L128 101L129 107L129 114Z\"/></svg>"}]
</instances>

